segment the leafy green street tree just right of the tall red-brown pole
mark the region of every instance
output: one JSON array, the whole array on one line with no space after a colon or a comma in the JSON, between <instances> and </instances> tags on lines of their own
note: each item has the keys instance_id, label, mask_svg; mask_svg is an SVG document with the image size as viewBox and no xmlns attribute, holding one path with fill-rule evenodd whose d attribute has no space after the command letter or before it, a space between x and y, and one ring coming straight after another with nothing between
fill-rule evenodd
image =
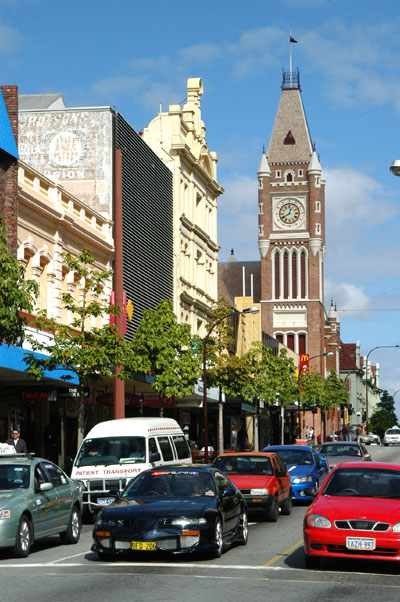
<instances>
[{"instance_id":1,"label":"leafy green street tree just right of the tall red-brown pole","mask_svg":"<svg viewBox=\"0 0 400 602\"><path fill-rule=\"evenodd\" d=\"M193 393L201 371L201 353L192 349L189 324L178 324L172 302L161 301L155 310L143 311L130 344L136 371L153 377L152 387L163 400Z\"/></svg>"}]
</instances>

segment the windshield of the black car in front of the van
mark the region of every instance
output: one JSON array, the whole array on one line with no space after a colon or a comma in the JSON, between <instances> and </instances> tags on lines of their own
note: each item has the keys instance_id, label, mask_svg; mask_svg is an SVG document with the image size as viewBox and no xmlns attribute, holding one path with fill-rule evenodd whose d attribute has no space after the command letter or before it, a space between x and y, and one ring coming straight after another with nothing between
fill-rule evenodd
<instances>
[{"instance_id":1,"label":"windshield of the black car in front of the van","mask_svg":"<svg viewBox=\"0 0 400 602\"><path fill-rule=\"evenodd\" d=\"M170 496L187 498L215 496L214 481L210 473L196 470L143 472L125 489L123 498Z\"/></svg>"}]
</instances>

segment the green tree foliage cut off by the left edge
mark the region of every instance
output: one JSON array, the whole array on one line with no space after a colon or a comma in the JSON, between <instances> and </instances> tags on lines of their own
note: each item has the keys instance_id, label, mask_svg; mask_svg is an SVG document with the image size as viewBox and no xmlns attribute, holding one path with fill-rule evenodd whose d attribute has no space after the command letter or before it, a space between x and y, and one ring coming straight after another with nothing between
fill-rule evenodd
<instances>
[{"instance_id":1,"label":"green tree foliage cut off by the left edge","mask_svg":"<svg viewBox=\"0 0 400 602\"><path fill-rule=\"evenodd\" d=\"M24 267L10 254L0 219L0 342L18 344L24 337L26 320L20 311L32 313L38 285L25 280Z\"/></svg>"}]
</instances>

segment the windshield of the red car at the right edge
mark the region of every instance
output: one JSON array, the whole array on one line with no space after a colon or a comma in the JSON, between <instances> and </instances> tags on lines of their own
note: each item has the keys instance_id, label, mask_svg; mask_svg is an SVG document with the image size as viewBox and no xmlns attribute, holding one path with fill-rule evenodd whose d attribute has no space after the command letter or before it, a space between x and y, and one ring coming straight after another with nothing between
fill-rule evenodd
<instances>
[{"instance_id":1,"label":"windshield of the red car at the right edge","mask_svg":"<svg viewBox=\"0 0 400 602\"><path fill-rule=\"evenodd\" d=\"M400 471L377 468L340 468L322 495L400 499Z\"/></svg>"}]
</instances>

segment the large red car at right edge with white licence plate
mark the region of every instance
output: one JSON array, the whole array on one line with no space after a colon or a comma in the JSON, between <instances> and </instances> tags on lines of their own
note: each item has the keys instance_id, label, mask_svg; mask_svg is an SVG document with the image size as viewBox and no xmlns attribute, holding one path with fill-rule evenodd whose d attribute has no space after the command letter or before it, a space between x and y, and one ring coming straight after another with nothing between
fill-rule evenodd
<instances>
[{"instance_id":1,"label":"large red car at right edge with white licence plate","mask_svg":"<svg viewBox=\"0 0 400 602\"><path fill-rule=\"evenodd\" d=\"M304 517L307 568L321 558L400 560L399 507L400 464L338 464Z\"/></svg>"}]
</instances>

